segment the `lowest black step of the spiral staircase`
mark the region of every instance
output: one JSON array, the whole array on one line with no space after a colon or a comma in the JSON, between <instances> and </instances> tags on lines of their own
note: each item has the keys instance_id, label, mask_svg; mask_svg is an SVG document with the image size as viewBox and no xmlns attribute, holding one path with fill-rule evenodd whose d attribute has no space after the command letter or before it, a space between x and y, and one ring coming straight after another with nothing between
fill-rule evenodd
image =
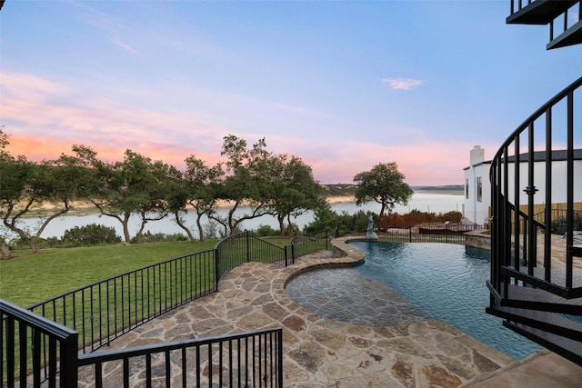
<instances>
[{"instance_id":1,"label":"lowest black step of the spiral staircase","mask_svg":"<svg viewBox=\"0 0 582 388\"><path fill-rule=\"evenodd\" d=\"M504 322L504 326L573 363L582 365L582 343L554 333L547 333L520 323Z\"/></svg>"}]
</instances>

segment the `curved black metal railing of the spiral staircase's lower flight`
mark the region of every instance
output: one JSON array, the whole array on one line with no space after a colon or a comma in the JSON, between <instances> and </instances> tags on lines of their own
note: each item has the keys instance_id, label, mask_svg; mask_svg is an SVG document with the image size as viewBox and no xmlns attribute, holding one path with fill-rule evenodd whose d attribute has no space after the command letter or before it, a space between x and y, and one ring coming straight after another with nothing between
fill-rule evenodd
<instances>
[{"instance_id":1,"label":"curved black metal railing of the spiral staircase's lower flight","mask_svg":"<svg viewBox=\"0 0 582 388\"><path fill-rule=\"evenodd\" d=\"M565 298L582 296L582 278L575 277L571 249L575 204L582 201L582 144L576 139L576 146L574 125L574 96L580 86L582 78L539 108L507 138L492 160L490 288L498 297L507 295L507 284L518 281ZM553 179L558 174L563 175L561 184ZM545 206L543 217L536 214L538 204L555 202L566 204L565 260L559 266L552 260L551 205ZM543 244L538 248L540 239Z\"/></svg>"}]
</instances>

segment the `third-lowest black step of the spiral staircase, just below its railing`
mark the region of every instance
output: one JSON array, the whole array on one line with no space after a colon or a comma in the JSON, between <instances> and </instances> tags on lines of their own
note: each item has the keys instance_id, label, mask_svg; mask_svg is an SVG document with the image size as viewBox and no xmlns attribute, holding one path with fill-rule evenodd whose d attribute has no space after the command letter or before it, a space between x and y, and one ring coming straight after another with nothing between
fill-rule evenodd
<instances>
[{"instance_id":1,"label":"third-lowest black step of the spiral staircase, just below its railing","mask_svg":"<svg viewBox=\"0 0 582 388\"><path fill-rule=\"evenodd\" d=\"M505 285L502 284L501 289L504 288ZM541 288L517 284L507 285L507 295L501 298L499 303L504 307L582 315L582 298L564 299Z\"/></svg>"}]
</instances>

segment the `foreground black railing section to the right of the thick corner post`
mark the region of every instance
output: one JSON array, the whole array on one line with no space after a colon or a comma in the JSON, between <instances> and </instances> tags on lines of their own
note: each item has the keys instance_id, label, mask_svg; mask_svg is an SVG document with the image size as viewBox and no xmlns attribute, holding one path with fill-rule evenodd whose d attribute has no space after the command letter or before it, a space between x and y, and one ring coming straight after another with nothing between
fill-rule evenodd
<instances>
[{"instance_id":1,"label":"foreground black railing section to the right of the thick corner post","mask_svg":"<svg viewBox=\"0 0 582 388\"><path fill-rule=\"evenodd\" d=\"M157 373L152 371L156 370ZM115 386L283 387L283 330L83 354L80 375Z\"/></svg>"}]
</instances>

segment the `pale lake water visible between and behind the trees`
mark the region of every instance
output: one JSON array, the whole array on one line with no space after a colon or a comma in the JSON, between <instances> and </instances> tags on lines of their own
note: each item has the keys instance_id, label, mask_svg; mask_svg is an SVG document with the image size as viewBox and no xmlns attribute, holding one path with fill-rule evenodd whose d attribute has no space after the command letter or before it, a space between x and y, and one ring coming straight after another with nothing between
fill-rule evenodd
<instances>
[{"instance_id":1,"label":"pale lake water visible between and behind the trees","mask_svg":"<svg viewBox=\"0 0 582 388\"><path fill-rule=\"evenodd\" d=\"M421 212L432 212L432 213L447 213L451 211L463 212L463 195L455 194L428 194L428 193L415 193L412 199L408 202L406 206L396 205L394 211L399 214L409 213L411 210L418 210ZM369 202L361 206L356 206L355 202L342 202L331 204L332 210L337 214L342 214L346 212L347 214L355 214L360 210L364 212L371 211L376 214L380 212L380 204L376 202ZM242 207L237 214L244 214L248 212L248 208ZM218 208L217 214L221 216L226 216L228 213L228 208ZM197 237L196 229L196 212L188 212L185 216L186 225L195 233ZM38 218L26 218L22 221L26 227L30 227L32 230L36 230L39 224ZM303 229L306 224L313 221L313 212L306 212L306 214L301 214L292 219L292 222L296 224L299 229ZM203 217L202 223L208 224L208 219ZM71 212L70 215L65 215L51 221L43 231L41 237L62 237L65 230L73 228L75 226L83 226L87 224L102 224L105 226L113 226L117 234L123 235L123 228L121 223L119 223L115 218L108 217L100 214L86 214L86 215L76 215L75 212ZM278 224L276 218L270 215L265 215L258 217L254 220L246 221L242 228L253 230L258 228L260 225L269 225L274 229L278 229ZM129 232L135 235L139 230L139 217L134 215L129 221ZM160 221L153 221L146 224L145 232L150 232L152 234L163 233L163 234L184 234L184 231L176 224L173 216L167 216ZM0 226L0 234L8 234L4 226ZM10 235L10 234L8 234Z\"/></svg>"}]
</instances>

